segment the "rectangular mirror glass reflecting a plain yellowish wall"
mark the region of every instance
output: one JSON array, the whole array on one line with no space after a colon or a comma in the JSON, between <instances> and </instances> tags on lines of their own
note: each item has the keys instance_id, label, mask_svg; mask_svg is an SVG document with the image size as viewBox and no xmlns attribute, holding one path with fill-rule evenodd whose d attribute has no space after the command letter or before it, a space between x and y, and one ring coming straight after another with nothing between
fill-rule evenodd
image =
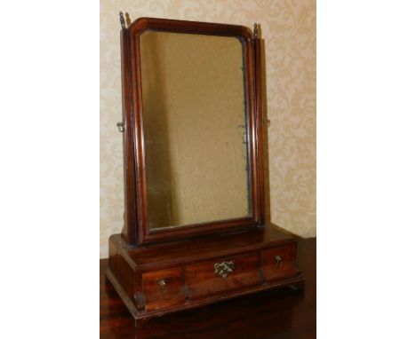
<instances>
[{"instance_id":1,"label":"rectangular mirror glass reflecting a plain yellowish wall","mask_svg":"<svg viewBox=\"0 0 416 339\"><path fill-rule=\"evenodd\" d=\"M244 44L148 30L140 68L150 229L251 216Z\"/></svg>"}]
</instances>

